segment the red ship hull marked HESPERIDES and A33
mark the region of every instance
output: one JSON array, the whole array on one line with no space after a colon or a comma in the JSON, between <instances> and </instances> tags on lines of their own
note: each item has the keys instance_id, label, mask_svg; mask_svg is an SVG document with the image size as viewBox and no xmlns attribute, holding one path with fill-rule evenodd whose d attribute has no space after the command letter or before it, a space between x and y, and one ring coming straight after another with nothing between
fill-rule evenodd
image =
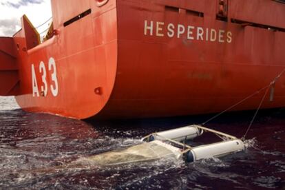
<instances>
[{"instance_id":1,"label":"red ship hull marked HESPERIDES and A33","mask_svg":"<svg viewBox=\"0 0 285 190\"><path fill-rule=\"evenodd\" d=\"M52 1L51 39L30 43L25 18L14 35L19 83L9 93L28 112L78 119L221 112L285 67L283 3L69 0L63 11L65 5ZM233 110L256 109L262 96ZM274 107L285 107L285 75L262 104Z\"/></svg>"}]
</instances>

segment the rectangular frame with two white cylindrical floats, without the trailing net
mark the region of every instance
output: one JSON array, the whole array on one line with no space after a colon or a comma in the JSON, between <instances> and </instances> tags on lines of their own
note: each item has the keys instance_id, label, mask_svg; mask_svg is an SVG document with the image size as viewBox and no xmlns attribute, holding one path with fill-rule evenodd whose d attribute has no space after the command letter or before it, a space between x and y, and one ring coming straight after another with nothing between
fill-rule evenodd
<instances>
[{"instance_id":1,"label":"rectangular frame with two white cylindrical floats, without the trailing net","mask_svg":"<svg viewBox=\"0 0 285 190\"><path fill-rule=\"evenodd\" d=\"M202 135L204 132L211 132L220 137L222 141L196 147L186 144L187 140L193 140L193 138ZM218 158L244 150L244 142L239 138L200 125L189 125L178 129L161 131L142 138L142 141L145 142L154 140L160 140L170 144L171 147L180 149L180 154L177 157L183 158L186 162L194 162L203 158ZM181 143L181 141L184 141L184 143Z\"/></svg>"}]
</instances>

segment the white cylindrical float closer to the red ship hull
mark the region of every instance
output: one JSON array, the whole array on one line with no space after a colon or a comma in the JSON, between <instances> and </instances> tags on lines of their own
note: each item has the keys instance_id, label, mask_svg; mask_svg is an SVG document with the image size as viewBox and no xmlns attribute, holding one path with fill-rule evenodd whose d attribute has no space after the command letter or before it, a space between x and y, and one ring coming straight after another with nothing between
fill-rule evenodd
<instances>
[{"instance_id":1,"label":"white cylindrical float closer to the red ship hull","mask_svg":"<svg viewBox=\"0 0 285 190\"><path fill-rule=\"evenodd\" d=\"M169 138L171 140L176 141L182 141L185 138L187 140L196 138L197 136L200 136L203 134L203 130L196 127L196 125L190 125L187 127L181 127L178 129L171 129L167 131L161 131L156 133L156 135L153 136L154 139L152 140L162 140L162 138Z\"/></svg>"}]
</instances>

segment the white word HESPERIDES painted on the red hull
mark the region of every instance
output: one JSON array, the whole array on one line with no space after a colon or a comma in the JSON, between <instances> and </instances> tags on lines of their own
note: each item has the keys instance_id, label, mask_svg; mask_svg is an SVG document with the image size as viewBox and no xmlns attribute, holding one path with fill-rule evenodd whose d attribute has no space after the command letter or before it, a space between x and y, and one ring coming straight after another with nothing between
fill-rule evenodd
<instances>
[{"instance_id":1,"label":"white word HESPERIDES painted on the red hull","mask_svg":"<svg viewBox=\"0 0 285 190\"><path fill-rule=\"evenodd\" d=\"M178 39L185 36L191 41L197 40L219 43L231 43L233 41L233 33L231 31L204 28L202 26L184 25L181 23L175 25L173 23L145 20L144 30L145 36L167 36L169 38L176 37Z\"/></svg>"}]
</instances>

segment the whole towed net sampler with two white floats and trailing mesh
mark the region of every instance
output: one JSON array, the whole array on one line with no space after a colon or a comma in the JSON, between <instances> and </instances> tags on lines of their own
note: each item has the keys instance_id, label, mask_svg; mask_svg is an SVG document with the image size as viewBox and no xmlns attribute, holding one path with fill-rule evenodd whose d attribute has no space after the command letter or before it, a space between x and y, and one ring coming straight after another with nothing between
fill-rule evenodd
<instances>
[{"instance_id":1,"label":"whole towed net sampler with two white floats and trailing mesh","mask_svg":"<svg viewBox=\"0 0 285 190\"><path fill-rule=\"evenodd\" d=\"M205 132L211 132L219 136L222 141L196 147L186 144L187 140L196 138ZM140 145L81 158L76 162L87 161L96 165L123 165L160 160L162 158L175 158L185 162L194 162L203 158L217 158L242 150L244 150L244 142L235 136L199 125L190 125L150 134L142 138L142 144Z\"/></svg>"}]
</instances>

